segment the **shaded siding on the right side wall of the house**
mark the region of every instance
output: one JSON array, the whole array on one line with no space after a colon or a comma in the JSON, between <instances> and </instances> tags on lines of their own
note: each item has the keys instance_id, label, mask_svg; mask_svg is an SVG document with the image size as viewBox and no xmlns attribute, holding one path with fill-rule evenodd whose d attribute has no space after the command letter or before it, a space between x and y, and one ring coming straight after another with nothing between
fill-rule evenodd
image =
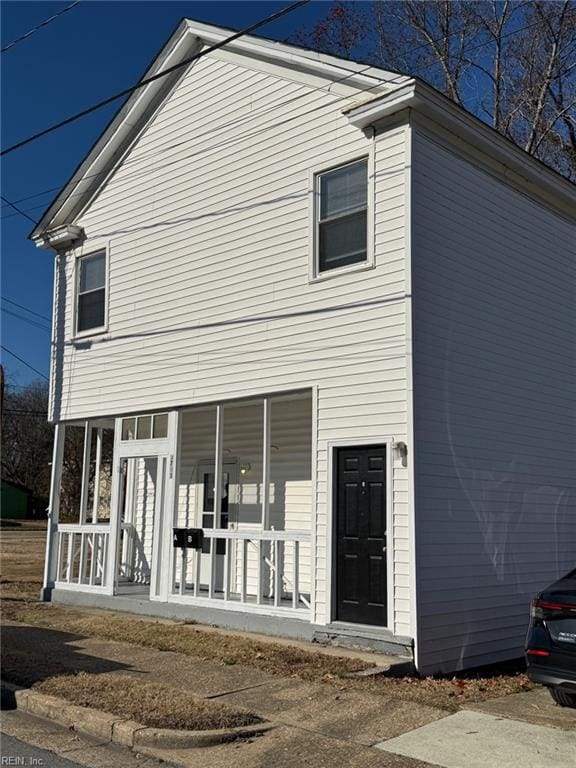
<instances>
[{"instance_id":1,"label":"shaded siding on the right side wall of the house","mask_svg":"<svg viewBox=\"0 0 576 768\"><path fill-rule=\"evenodd\" d=\"M419 666L518 657L576 559L576 227L444 147L413 146Z\"/></svg>"}]
</instances>

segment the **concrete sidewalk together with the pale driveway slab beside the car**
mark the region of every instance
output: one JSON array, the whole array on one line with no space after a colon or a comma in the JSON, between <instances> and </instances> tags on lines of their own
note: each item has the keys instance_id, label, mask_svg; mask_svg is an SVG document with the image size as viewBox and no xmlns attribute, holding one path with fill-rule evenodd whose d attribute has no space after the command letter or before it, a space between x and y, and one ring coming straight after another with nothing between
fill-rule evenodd
<instances>
[{"instance_id":1,"label":"concrete sidewalk together with the pale driveway slab beside the car","mask_svg":"<svg viewBox=\"0 0 576 768\"><path fill-rule=\"evenodd\" d=\"M448 715L364 692L346 681L336 685L279 677L247 665L39 626L7 623L2 640L5 651L20 652L23 665L33 657L42 659L47 674L52 667L135 676L245 707L275 724L262 737L203 748L204 768L231 761L239 768L576 767L576 713L556 706L543 689ZM154 754L180 766L199 760L196 750Z\"/></svg>"}]
</instances>

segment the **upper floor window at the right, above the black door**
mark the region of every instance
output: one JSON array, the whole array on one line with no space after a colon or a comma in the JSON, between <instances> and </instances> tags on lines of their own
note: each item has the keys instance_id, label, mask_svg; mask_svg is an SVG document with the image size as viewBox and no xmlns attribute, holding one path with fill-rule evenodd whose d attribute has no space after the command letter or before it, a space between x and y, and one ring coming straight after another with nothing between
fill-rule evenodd
<instances>
[{"instance_id":1,"label":"upper floor window at the right, above the black door","mask_svg":"<svg viewBox=\"0 0 576 768\"><path fill-rule=\"evenodd\" d=\"M368 261L368 159L316 177L316 271Z\"/></svg>"}]
</instances>

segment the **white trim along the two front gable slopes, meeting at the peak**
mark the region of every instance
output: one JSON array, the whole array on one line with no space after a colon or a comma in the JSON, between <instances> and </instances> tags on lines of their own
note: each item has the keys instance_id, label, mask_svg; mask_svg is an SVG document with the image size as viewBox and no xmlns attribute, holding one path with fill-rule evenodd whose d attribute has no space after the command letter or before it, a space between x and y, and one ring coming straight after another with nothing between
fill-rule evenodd
<instances>
[{"instance_id":1,"label":"white trim along the two front gable slopes, meeting at the peak","mask_svg":"<svg viewBox=\"0 0 576 768\"><path fill-rule=\"evenodd\" d=\"M226 40L234 32L235 30L227 27L182 19L141 80L185 61L199 53L204 46ZM377 80L382 84L383 92L393 85L410 81L407 75L397 72L254 35L243 35L227 44L226 50L322 75L334 81L345 78L349 84L363 87L374 86L374 81ZM104 184L143 126L156 113L187 70L188 67L182 66L166 77L161 77L130 94L48 206L30 233L30 239L36 241L37 245L52 247L59 240L65 242L78 236L77 228L70 226L70 222ZM387 83L390 83L388 88ZM54 235L48 238L49 231L54 231Z\"/></svg>"}]
</instances>

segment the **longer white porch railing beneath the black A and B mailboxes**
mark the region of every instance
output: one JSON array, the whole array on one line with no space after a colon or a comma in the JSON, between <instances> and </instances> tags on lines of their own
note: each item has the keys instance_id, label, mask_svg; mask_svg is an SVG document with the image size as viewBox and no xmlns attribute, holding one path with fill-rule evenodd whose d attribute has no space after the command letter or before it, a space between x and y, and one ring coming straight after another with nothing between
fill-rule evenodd
<instances>
[{"instance_id":1,"label":"longer white porch railing beneath the black A and B mailboxes","mask_svg":"<svg viewBox=\"0 0 576 768\"><path fill-rule=\"evenodd\" d=\"M210 542L209 552L174 550L172 601L209 600L232 610L298 612L307 618L309 531L205 528L204 541Z\"/></svg>"}]
</instances>

